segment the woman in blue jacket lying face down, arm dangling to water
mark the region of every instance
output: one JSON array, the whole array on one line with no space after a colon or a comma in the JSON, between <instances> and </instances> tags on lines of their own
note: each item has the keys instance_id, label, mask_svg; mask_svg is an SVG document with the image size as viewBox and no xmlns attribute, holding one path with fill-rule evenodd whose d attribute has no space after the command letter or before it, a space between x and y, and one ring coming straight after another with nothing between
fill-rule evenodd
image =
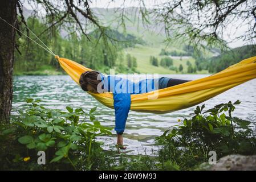
<instances>
[{"instance_id":1,"label":"woman in blue jacket lying face down, arm dangling to water","mask_svg":"<svg viewBox=\"0 0 256 182\"><path fill-rule=\"evenodd\" d=\"M132 82L128 79L114 75L104 76L97 71L84 72L79 79L80 86L84 91L92 93L113 93L117 146L123 150L126 149L126 147L123 146L123 132L131 106L131 94L147 93L188 81L190 80L160 77Z\"/></svg>"}]
</instances>

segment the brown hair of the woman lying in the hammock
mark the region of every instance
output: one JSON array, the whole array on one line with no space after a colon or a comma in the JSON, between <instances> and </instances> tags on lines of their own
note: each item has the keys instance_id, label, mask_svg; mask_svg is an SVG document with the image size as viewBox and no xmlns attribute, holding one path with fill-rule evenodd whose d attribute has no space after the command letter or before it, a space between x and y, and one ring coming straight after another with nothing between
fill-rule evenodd
<instances>
[{"instance_id":1,"label":"brown hair of the woman lying in the hammock","mask_svg":"<svg viewBox=\"0 0 256 182\"><path fill-rule=\"evenodd\" d=\"M88 91L87 85L91 85L95 90L97 90L97 85L99 84L99 82L101 82L101 80L97 80L97 76L99 74L100 72L97 71L86 71L82 73L79 79L79 84L81 88L84 91Z\"/></svg>"}]
</instances>

